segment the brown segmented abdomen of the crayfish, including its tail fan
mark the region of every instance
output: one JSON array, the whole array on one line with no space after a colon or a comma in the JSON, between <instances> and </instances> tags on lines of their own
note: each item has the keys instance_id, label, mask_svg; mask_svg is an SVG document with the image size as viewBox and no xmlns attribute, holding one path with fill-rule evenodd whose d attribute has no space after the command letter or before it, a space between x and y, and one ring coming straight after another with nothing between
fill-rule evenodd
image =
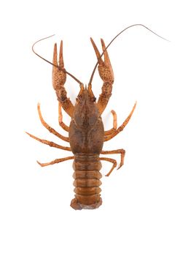
<instances>
[{"instance_id":1,"label":"brown segmented abdomen of the crayfish, including its tail fan","mask_svg":"<svg viewBox=\"0 0 180 256\"><path fill-rule=\"evenodd\" d=\"M75 198L71 200L71 207L76 210L82 208L94 209L101 206L101 162L98 154L76 154L74 168Z\"/></svg>"}]
</instances>

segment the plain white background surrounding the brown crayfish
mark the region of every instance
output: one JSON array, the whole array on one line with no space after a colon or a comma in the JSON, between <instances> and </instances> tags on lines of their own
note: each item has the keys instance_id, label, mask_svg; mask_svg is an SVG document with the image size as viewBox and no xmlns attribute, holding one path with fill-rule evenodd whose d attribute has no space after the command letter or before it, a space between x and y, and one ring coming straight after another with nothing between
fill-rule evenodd
<instances>
[{"instance_id":1,"label":"plain white background surrounding the brown crayfish","mask_svg":"<svg viewBox=\"0 0 180 256\"><path fill-rule=\"evenodd\" d=\"M4 1L1 3L1 173L0 255L180 255L179 165L179 1ZM44 119L60 133L58 102L52 89L50 64L54 42L64 42L66 69L88 83L95 65L93 37L108 43L114 86L103 114L111 128L110 110L118 124L138 105L125 130L104 149L125 148L125 165L102 178L103 205L94 211L74 211L72 161L41 168L69 152L38 143L40 138L65 142L51 135ZM102 82L95 73L98 97ZM69 78L74 101L78 84ZM64 121L69 118L64 113ZM120 161L118 155L113 155ZM102 173L111 168L103 162Z\"/></svg>"}]
</instances>

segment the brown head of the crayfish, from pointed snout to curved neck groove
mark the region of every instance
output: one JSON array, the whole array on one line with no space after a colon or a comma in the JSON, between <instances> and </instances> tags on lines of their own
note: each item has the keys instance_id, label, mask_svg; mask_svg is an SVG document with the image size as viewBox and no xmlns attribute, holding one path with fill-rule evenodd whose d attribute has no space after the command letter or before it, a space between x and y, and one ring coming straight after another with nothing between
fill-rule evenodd
<instances>
[{"instance_id":1,"label":"brown head of the crayfish, from pointed snout to curved neck groove","mask_svg":"<svg viewBox=\"0 0 180 256\"><path fill-rule=\"evenodd\" d=\"M89 129L95 125L101 114L98 111L91 86L81 86L74 107L74 121L81 129Z\"/></svg>"}]
</instances>

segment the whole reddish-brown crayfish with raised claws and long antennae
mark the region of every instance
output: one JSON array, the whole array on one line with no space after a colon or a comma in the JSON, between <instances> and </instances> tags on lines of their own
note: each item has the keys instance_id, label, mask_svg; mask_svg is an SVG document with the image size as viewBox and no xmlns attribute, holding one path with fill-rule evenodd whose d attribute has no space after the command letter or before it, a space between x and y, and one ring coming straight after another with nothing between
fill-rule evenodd
<instances>
[{"instance_id":1,"label":"whole reddish-brown crayfish with raised claws and long antennae","mask_svg":"<svg viewBox=\"0 0 180 256\"><path fill-rule=\"evenodd\" d=\"M133 26L144 26L141 24L136 24ZM131 26L129 26L131 27ZM129 28L128 27L128 28ZM145 26L144 26L145 27ZM128 29L126 28L126 29ZM146 27L145 27L146 28ZM147 29L147 28L146 28ZM150 29L149 29L150 30ZM125 31L125 29L123 30ZM117 34L119 36L122 31ZM154 33L154 32L153 32ZM155 33L154 33L155 34ZM117 37L116 36L116 37ZM114 39L116 38L114 37ZM112 39L111 42L114 40ZM98 67L98 73L103 80L103 86L101 90L101 94L96 100L95 95L92 90L92 80L95 72L95 68L93 69L93 74L90 78L90 83L88 86L84 86L74 75L71 75L64 68L63 63L63 41L60 42L60 53L58 57L57 45L54 46L53 53L53 61L45 60L52 64L52 85L55 89L55 93L58 98L58 110L59 116L58 121L60 127L62 127L66 132L69 133L69 136L65 137L60 135L55 129L50 127L49 124L44 121L42 117L42 113L40 110L40 105L38 105L38 113L40 121L42 125L48 129L52 134L64 140L70 144L69 147L60 146L54 142L43 140L35 137L34 135L29 134L31 138L38 140L41 143L47 144L54 148L60 148L66 151L72 152L73 155L69 157L64 157L60 159L55 159L52 162L47 163L39 163L42 167L47 165L54 165L59 162L67 161L70 159L74 159L73 168L74 168L74 192L75 197L71 200L71 207L76 210L85 209L94 209L98 208L102 204L101 199L101 161L111 162L112 167L109 170L109 173L106 176L109 176L110 173L117 167L117 161L115 159L109 157L100 157L100 155L106 154L120 154L120 165L117 167L119 169L124 164L125 159L125 150L114 149L111 151L104 151L103 143L107 140L111 140L116 135L118 135L122 130L126 127L128 122L130 121L131 116L136 108L136 103L133 105L133 109L131 110L129 116L125 119L120 127L117 128L117 115L114 110L111 110L111 114L113 116L113 127L109 130L104 130L102 114L106 108L106 105L109 102L109 98L111 97L112 85L114 83L114 74L113 69L111 67L111 61L109 59L109 54L107 52L107 48L111 44L106 47L103 39L101 39L101 45L103 53L100 53L95 42L92 38L90 38L93 48L95 50L95 55L97 57L97 64L95 68ZM40 41L40 40L39 40ZM38 42L39 42L38 41ZM33 48L34 50L34 48ZM36 53L36 52L34 52ZM36 53L36 55L38 55ZM38 55L39 56L39 55ZM66 92L66 75L70 75L74 80L79 83L80 89L79 94L77 95L75 105L72 104L71 99L67 97ZM61 108L71 117L70 125L66 125L63 123L63 116Z\"/></svg>"}]
</instances>

